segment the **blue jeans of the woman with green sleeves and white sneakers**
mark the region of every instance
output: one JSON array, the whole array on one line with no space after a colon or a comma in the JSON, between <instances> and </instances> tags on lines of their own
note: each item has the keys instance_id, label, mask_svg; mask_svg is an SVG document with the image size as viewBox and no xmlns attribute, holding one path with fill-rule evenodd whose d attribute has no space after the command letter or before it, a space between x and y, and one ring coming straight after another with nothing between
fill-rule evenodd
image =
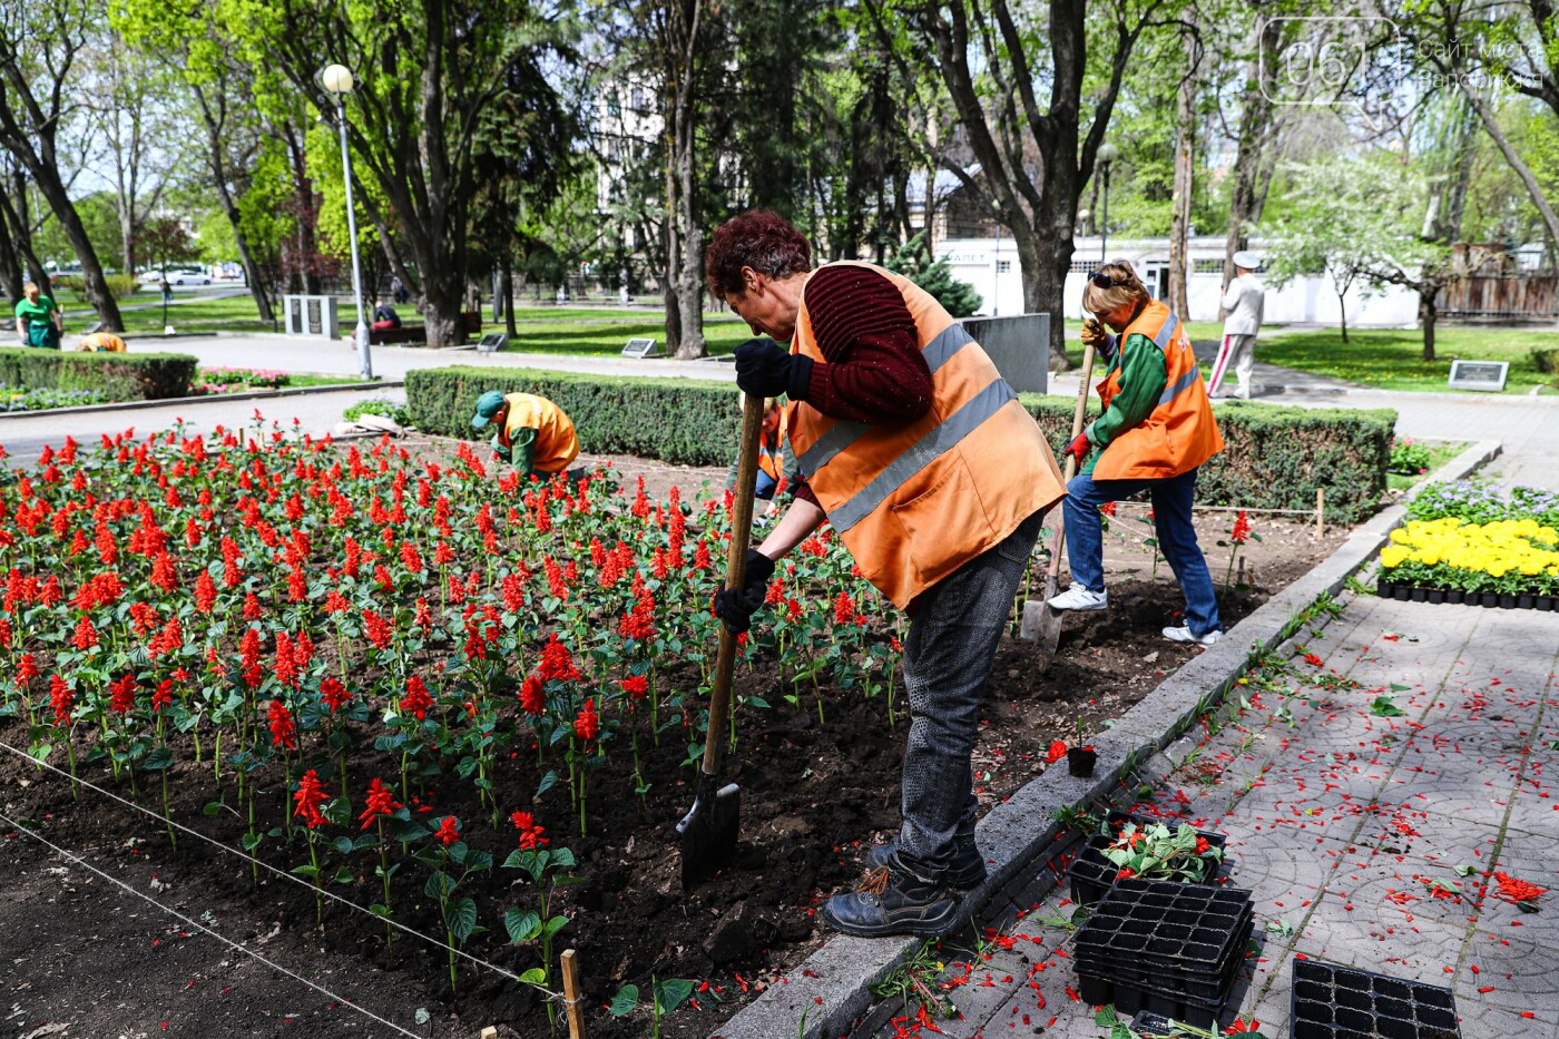
<instances>
[{"instance_id":1,"label":"blue jeans of the woman with green sleeves and white sneakers","mask_svg":"<svg viewBox=\"0 0 1559 1039\"><path fill-rule=\"evenodd\" d=\"M1218 598L1213 594L1213 576L1207 573L1207 560L1196 543L1196 527L1191 526L1191 502L1196 501L1196 470L1160 480L1096 480L1091 476L1074 476L1066 485L1066 562L1073 580L1088 591L1104 591L1104 535L1099 523L1099 505L1130 498L1147 490L1154 505L1154 527L1158 530L1158 551L1169 560L1180 593L1185 596L1185 622L1193 635L1222 630L1218 619Z\"/></svg>"}]
</instances>

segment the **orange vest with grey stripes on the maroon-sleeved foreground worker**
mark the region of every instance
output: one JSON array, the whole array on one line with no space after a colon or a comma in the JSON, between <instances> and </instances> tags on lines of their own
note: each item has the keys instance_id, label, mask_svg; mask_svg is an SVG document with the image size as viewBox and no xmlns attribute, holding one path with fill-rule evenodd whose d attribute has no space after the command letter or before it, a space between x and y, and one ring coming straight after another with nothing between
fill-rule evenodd
<instances>
[{"instance_id":1,"label":"orange vest with grey stripes on the maroon-sleeved foreground worker","mask_svg":"<svg viewBox=\"0 0 1559 1039\"><path fill-rule=\"evenodd\" d=\"M900 608L1066 495L1038 424L981 345L928 292L873 267L904 296L931 368L931 407L898 426L790 406L797 463L861 573ZM828 363L806 292L792 354Z\"/></svg>"}]
</instances>

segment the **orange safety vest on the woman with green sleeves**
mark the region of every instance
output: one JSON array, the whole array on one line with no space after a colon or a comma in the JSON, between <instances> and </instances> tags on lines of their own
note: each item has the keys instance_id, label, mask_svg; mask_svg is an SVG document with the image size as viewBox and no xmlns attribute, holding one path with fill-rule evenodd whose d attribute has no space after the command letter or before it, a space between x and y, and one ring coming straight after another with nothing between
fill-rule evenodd
<instances>
[{"instance_id":1,"label":"orange safety vest on the woman with green sleeves","mask_svg":"<svg viewBox=\"0 0 1559 1039\"><path fill-rule=\"evenodd\" d=\"M1168 304L1154 300L1121 332L1121 351L1133 334L1141 334L1163 351L1165 392L1141 426L1105 445L1093 465L1096 480L1169 479L1190 473L1224 449L1213 404L1207 399L1207 387L1191 353L1191 337L1185 334L1180 318ZM1110 407L1121 392L1122 367L1112 368L1096 387L1104 407Z\"/></svg>"}]
</instances>

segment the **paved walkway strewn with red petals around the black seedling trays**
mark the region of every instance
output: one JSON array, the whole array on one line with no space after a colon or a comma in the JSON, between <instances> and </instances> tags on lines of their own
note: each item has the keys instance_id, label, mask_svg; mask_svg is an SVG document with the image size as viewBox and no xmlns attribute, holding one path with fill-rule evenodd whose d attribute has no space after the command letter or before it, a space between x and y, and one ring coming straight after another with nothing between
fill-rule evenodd
<instances>
[{"instance_id":1,"label":"paved walkway strewn with red petals around the black seedling trays","mask_svg":"<svg viewBox=\"0 0 1559 1039\"><path fill-rule=\"evenodd\" d=\"M1252 952L1222 1025L1238 1008L1289 1039L1291 964L1305 956L1451 989L1464 1039L1559 1036L1559 796L1547 786L1559 615L1361 594L1324 619L1252 672L1247 707L1230 702L1149 763L1151 793L1132 791L1147 794L1140 813L1228 835L1225 883L1253 892ZM999 927L984 955L931 953L946 964L931 983L959 1017L931 1019L935 1033L879 1011L857 1037L1105 1036L1076 997L1068 931L1046 922L1076 910L1068 853L988 917ZM1550 892L1522 911L1495 874Z\"/></svg>"}]
</instances>

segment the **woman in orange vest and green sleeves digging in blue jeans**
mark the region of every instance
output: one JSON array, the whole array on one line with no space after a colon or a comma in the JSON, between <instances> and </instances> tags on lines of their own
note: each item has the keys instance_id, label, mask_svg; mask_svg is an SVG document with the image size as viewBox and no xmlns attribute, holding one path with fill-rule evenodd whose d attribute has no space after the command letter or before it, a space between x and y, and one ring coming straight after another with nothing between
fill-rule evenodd
<instances>
[{"instance_id":1,"label":"woman in orange vest and green sleeves digging in blue jeans","mask_svg":"<svg viewBox=\"0 0 1559 1039\"><path fill-rule=\"evenodd\" d=\"M1071 588L1049 604L1057 610L1108 605L1099 505L1146 490L1158 551L1185 596L1185 624L1163 633L1177 643L1211 646L1222 635L1222 622L1213 577L1191 526L1191 504L1197 466L1224 449L1224 438L1191 340L1180 318L1147 293L1126 261L1102 265L1084 287L1082 304L1118 335L1105 332L1099 321L1084 324L1084 342L1093 343L1108 363L1098 384L1104 412L1065 451L1080 470L1066 485L1066 562L1073 579Z\"/></svg>"}]
</instances>

